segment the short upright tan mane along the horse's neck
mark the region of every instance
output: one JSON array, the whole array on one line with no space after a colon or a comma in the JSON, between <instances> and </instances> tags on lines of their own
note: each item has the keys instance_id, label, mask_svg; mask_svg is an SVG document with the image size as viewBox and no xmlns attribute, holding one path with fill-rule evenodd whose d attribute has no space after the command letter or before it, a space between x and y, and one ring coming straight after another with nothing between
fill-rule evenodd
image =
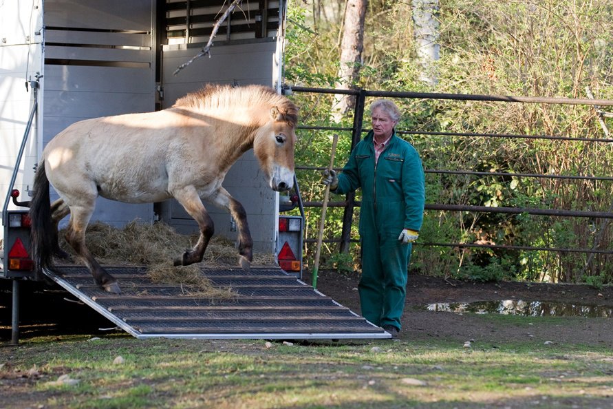
<instances>
[{"instance_id":1,"label":"short upright tan mane along the horse's neck","mask_svg":"<svg viewBox=\"0 0 613 409\"><path fill-rule=\"evenodd\" d=\"M298 107L283 95L264 85L205 85L201 90L179 98L173 107L197 109L232 109L238 105L266 104L277 107L281 119L292 126L298 123Z\"/></svg>"}]
</instances>

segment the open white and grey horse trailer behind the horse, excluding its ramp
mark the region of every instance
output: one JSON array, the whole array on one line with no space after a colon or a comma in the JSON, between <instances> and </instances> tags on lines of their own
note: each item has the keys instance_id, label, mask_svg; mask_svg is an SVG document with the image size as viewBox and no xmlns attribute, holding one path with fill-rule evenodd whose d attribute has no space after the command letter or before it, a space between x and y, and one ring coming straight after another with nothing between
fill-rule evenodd
<instances>
[{"instance_id":1,"label":"open white and grey horse trailer behind the horse, excluding its ramp","mask_svg":"<svg viewBox=\"0 0 613 409\"><path fill-rule=\"evenodd\" d=\"M166 109L205 84L266 85L281 93L286 1L244 0L221 22L230 3L235 5L224 0L0 2L0 278L12 279L13 328L19 282L49 279L36 275L30 258L28 207L36 164L58 132L89 118ZM211 39L210 58L193 60ZM279 217L300 204L297 187L295 194L280 198L268 187L252 150L230 168L224 187L244 204L254 251L281 254L279 264L301 278L303 220ZM56 198L51 189L51 200ZM229 213L207 210L215 233L236 240ZM92 220L113 227L162 221L179 233L197 231L175 200L125 204L98 198ZM375 337L389 336L380 328L375 332Z\"/></svg>"}]
</instances>

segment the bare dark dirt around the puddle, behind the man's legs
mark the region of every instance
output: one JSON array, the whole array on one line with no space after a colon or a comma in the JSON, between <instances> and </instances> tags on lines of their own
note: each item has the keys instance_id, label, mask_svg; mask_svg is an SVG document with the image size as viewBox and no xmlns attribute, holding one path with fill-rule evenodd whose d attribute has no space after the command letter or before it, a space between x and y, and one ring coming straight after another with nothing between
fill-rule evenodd
<instances>
[{"instance_id":1,"label":"bare dark dirt around the puddle, behind the man's legs","mask_svg":"<svg viewBox=\"0 0 613 409\"><path fill-rule=\"evenodd\" d=\"M317 289L336 302L360 312L358 275L345 276L334 271L320 271ZM312 282L310 273L303 281ZM577 306L613 308L613 287L594 289L577 284L521 282L474 283L423 275L409 275L405 313L402 316L400 339L441 339L473 341L475 345L495 346L501 342L534 340L559 344L587 344L613 348L613 316L556 317L550 324L539 325L538 317L524 317L521 322L496 319L495 315L428 311L424 306L435 303L522 300Z\"/></svg>"}]
</instances>

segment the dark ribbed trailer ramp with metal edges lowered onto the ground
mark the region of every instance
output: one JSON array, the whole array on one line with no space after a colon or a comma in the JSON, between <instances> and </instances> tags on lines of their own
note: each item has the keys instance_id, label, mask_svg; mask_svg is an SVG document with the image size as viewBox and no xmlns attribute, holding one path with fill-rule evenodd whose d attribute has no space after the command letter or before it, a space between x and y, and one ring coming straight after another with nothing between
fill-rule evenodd
<instances>
[{"instance_id":1,"label":"dark ribbed trailer ramp with metal edges lowered onto the ground","mask_svg":"<svg viewBox=\"0 0 613 409\"><path fill-rule=\"evenodd\" d=\"M380 339L391 335L288 275L278 266L204 268L230 300L184 295L180 284L155 284L144 267L105 267L122 293L94 284L85 267L45 271L54 282L136 338Z\"/></svg>"}]
</instances>

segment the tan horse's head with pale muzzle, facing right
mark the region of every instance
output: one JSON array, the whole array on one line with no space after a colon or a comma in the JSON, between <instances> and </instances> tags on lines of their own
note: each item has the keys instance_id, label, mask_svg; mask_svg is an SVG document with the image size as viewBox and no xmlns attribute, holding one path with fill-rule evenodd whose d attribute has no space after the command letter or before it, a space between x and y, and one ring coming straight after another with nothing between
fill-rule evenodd
<instances>
[{"instance_id":1,"label":"tan horse's head with pale muzzle, facing right","mask_svg":"<svg viewBox=\"0 0 613 409\"><path fill-rule=\"evenodd\" d=\"M286 111L277 107L270 110L270 120L261 127L253 142L253 151L268 176L273 190L286 191L294 186L294 127L298 119L295 105Z\"/></svg>"}]
</instances>

